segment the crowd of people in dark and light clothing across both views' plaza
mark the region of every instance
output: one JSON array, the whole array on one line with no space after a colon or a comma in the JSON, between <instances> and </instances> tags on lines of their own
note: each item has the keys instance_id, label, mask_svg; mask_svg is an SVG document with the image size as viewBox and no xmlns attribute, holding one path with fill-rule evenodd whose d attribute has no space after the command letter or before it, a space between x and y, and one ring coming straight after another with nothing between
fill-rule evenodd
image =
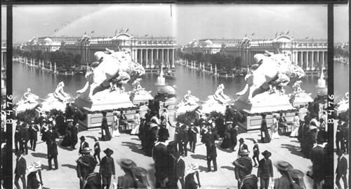
<instances>
[{"instance_id":1,"label":"crowd of people in dark and light clothing across both views' plaza","mask_svg":"<svg viewBox=\"0 0 351 189\"><path fill-rule=\"evenodd\" d=\"M155 111L152 103L151 109L147 110L145 116L140 118L139 112L135 112L133 117L133 127L131 134L137 134L141 141L141 146L145 155L152 157L154 160L156 188L200 188L201 179L199 174L199 165L187 164L183 157L187 157L187 151L195 153L197 139L201 139L201 143L206 146L206 162L207 172L217 172L217 146L216 141L222 139L220 148L229 149L230 151L238 151L237 159L232 162L234 166L235 179L237 179L238 188L301 188L305 189L303 177L305 174L299 169L293 169L293 165L286 161L270 160L272 153L263 151L260 153L258 141L253 139L253 156L250 158L248 146L243 138L239 139L238 122L241 117L240 113L232 107L227 106L225 115L211 118L209 115L200 116L199 120L194 119L190 124L176 123L172 125L169 120L168 110L166 107L161 113ZM38 132L40 132L41 140L47 145L48 169L52 169L52 160L54 169L58 169L58 150L56 139L62 137L59 144L62 147L75 149L78 144L78 117L74 116L76 109L69 107L65 113L59 113L58 116L44 117L41 115L38 120L32 120L30 124L21 123L15 130L15 186L20 188L18 181L21 179L23 188L39 188L34 187L43 184L40 173L41 162L32 162L29 167L30 174L25 180L25 159L23 154L28 154L27 143L30 141L30 148L35 151ZM72 111L71 111L72 110ZM67 113L68 112L68 113ZM118 115L113 112L112 124L109 128L107 123L107 113L102 112L100 141L110 141L112 137L118 137L121 130L128 127L128 121L124 112ZM205 118L206 117L206 118ZM286 118L283 113L272 116L272 125L267 125L266 115L262 115L260 127L260 143L270 143L274 139L278 139L280 134L288 132ZM318 120L315 113L307 112L303 120L299 119L298 113L293 118L290 137L297 137L300 141L300 150L305 158L310 158L312 162L313 186L314 188L322 188L324 185L326 163L326 144L328 137L326 133L326 113L324 112ZM37 123L37 124L36 124ZM168 129L175 127L175 136L173 141L168 141L170 134ZM269 128L270 127L270 131ZM347 160L343 157L344 153L348 153L345 133L348 131L348 123L339 121L338 131L336 133L338 166L336 169L336 184L340 186L340 179L343 179L344 187L347 186L345 165ZM199 135L199 137L198 137ZM35 137L34 137L35 136ZM342 136L342 138L340 138ZM339 138L338 138L339 137ZM103 152L105 157L100 158L100 149L98 137L94 137L93 155L91 148L84 136L79 138L79 158L77 162L77 177L79 178L80 188L110 188L116 185L117 188L148 188L150 183L147 179L147 171L143 167L138 167L133 160L120 159L117 164L124 171L124 176L118 177L117 183L112 183L112 176L116 178L113 151L106 148ZM189 144L189 148L188 148ZM252 155L252 154L251 154ZM263 158L260 159L260 155ZM95 172L95 167L99 166L99 172ZM253 174L253 167L258 168L257 174ZM276 167L280 176L273 174L273 167ZM23 170L24 169L24 170ZM27 169L29 170L29 169ZM30 175L30 176L29 176ZM34 176L38 175L38 176ZM40 175L40 176L39 176ZM35 179L34 179L35 177ZM39 178L40 179L37 179ZM35 180L35 181L34 181Z\"/></svg>"}]
</instances>

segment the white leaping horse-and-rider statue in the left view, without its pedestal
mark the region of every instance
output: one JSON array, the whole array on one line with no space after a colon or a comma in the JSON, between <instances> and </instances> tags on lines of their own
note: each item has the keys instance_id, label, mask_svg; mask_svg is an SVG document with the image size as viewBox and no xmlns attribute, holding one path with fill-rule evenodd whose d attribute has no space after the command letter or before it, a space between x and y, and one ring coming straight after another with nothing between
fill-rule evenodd
<instances>
[{"instance_id":1,"label":"white leaping horse-and-rider statue in the left view, without its pedestal","mask_svg":"<svg viewBox=\"0 0 351 189\"><path fill-rule=\"evenodd\" d=\"M114 52L106 48L105 52L95 52L95 59L98 62L93 62L86 71L86 85L77 91L81 94L90 87L89 99L92 99L93 94L101 91L98 87L105 90L117 83L117 87L122 88L123 84L128 81L133 82L133 80L145 74L143 66L133 62L128 52Z\"/></svg>"}]
</instances>

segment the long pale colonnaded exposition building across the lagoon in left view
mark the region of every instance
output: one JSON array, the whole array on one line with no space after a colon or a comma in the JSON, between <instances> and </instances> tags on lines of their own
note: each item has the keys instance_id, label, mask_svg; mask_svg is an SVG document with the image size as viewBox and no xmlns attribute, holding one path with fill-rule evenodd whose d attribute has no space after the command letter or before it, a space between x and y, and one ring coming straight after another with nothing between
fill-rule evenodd
<instances>
[{"instance_id":1,"label":"long pale colonnaded exposition building across the lagoon in left view","mask_svg":"<svg viewBox=\"0 0 351 189\"><path fill-rule=\"evenodd\" d=\"M84 36L52 36L39 37L27 41L22 49L27 51L62 50L73 55L81 55L82 63L95 62L94 53L97 51L123 50L131 53L132 60L143 64L146 69L152 69L160 64L174 66L175 51L178 48L176 40L171 36L133 36L121 30L112 37Z\"/></svg>"}]
</instances>

